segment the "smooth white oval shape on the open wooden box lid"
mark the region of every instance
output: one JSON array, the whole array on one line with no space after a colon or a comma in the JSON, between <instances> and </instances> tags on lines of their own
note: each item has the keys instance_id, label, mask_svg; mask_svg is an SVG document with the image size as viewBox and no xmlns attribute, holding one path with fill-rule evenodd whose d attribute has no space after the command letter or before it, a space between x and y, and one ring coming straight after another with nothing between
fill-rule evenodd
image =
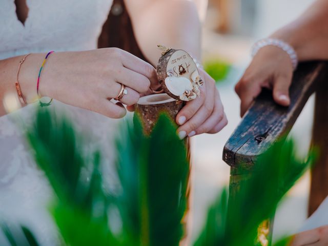
<instances>
[{"instance_id":1,"label":"smooth white oval shape on the open wooden box lid","mask_svg":"<svg viewBox=\"0 0 328 246\"><path fill-rule=\"evenodd\" d=\"M193 90L193 85L191 81L186 77L167 77L165 79L165 85L168 90L176 96L181 96L186 91Z\"/></svg>"}]
</instances>

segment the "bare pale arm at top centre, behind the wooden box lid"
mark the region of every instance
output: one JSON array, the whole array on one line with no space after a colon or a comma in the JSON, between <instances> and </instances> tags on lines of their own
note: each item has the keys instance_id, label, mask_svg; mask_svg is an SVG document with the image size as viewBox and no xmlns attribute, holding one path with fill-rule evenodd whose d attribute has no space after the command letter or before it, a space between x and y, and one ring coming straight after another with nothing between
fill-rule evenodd
<instances>
[{"instance_id":1,"label":"bare pale arm at top centre, behind the wooden box lid","mask_svg":"<svg viewBox=\"0 0 328 246\"><path fill-rule=\"evenodd\" d=\"M160 51L157 45L184 49L200 58L201 24L194 2L187 0L154 1L138 13L128 9L139 47L156 65Z\"/></svg>"}]
</instances>

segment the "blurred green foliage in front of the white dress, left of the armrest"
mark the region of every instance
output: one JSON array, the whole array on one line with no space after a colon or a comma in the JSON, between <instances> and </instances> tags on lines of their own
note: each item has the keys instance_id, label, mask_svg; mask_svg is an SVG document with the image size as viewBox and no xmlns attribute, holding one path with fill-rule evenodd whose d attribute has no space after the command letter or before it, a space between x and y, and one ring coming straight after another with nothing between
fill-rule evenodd
<instances>
[{"instance_id":1,"label":"blurred green foliage in front of the white dress, left of the armrest","mask_svg":"<svg viewBox=\"0 0 328 246\"><path fill-rule=\"evenodd\" d=\"M189 162L177 126L160 115L150 136L138 118L122 127L116 141L120 189L104 190L101 154L86 148L65 117L40 109L27 138L37 165L56 195L50 212L62 245L179 245L187 210ZM165 133L165 134L163 134ZM111 217L118 211L118 215ZM111 224L120 225L119 230ZM38 245L20 228L3 226L11 245Z\"/></svg>"}]
</instances>

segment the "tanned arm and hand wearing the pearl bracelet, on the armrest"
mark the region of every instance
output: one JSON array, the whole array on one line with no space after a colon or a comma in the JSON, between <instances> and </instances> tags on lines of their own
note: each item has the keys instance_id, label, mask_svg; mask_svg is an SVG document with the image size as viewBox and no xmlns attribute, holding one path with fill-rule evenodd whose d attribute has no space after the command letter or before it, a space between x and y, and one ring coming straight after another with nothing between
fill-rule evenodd
<instances>
[{"instance_id":1,"label":"tanned arm and hand wearing the pearl bracelet, on the armrest","mask_svg":"<svg viewBox=\"0 0 328 246\"><path fill-rule=\"evenodd\" d=\"M328 59L328 1L316 1L298 19L271 37L289 43L299 61ZM277 104L289 106L292 77L293 67L288 54L273 46L260 49L235 87L241 99L241 116L262 88L273 90Z\"/></svg>"}]
</instances>

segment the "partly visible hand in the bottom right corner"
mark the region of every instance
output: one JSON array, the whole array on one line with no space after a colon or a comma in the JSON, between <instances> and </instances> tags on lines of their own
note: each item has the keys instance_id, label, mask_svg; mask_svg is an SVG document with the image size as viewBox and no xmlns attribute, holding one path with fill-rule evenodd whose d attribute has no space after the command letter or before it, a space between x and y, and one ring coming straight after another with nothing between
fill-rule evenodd
<instances>
[{"instance_id":1,"label":"partly visible hand in the bottom right corner","mask_svg":"<svg viewBox=\"0 0 328 246\"><path fill-rule=\"evenodd\" d=\"M326 246L328 245L328 226L297 234L291 246Z\"/></svg>"}]
</instances>

